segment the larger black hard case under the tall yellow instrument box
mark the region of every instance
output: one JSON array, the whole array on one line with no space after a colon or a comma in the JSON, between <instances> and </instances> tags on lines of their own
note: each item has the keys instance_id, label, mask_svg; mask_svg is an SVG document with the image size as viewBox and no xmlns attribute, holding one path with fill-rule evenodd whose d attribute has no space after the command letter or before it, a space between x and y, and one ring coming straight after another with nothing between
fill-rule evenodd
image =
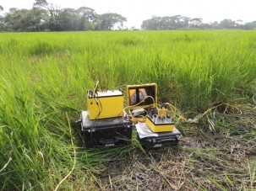
<instances>
[{"instance_id":1,"label":"larger black hard case under the tall yellow instrument box","mask_svg":"<svg viewBox=\"0 0 256 191\"><path fill-rule=\"evenodd\" d=\"M79 122L84 147L128 145L132 138L133 123L123 116L91 120L88 112L83 111Z\"/></svg>"}]
</instances>

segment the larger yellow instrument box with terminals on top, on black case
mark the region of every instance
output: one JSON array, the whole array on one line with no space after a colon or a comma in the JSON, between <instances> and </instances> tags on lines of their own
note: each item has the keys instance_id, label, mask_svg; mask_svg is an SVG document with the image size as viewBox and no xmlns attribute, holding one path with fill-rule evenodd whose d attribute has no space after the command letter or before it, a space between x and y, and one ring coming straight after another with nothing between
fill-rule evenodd
<instances>
[{"instance_id":1,"label":"larger yellow instrument box with terminals on top, on black case","mask_svg":"<svg viewBox=\"0 0 256 191\"><path fill-rule=\"evenodd\" d=\"M123 92L120 90L98 91L87 94L89 118L106 119L123 116Z\"/></svg>"}]
</instances>

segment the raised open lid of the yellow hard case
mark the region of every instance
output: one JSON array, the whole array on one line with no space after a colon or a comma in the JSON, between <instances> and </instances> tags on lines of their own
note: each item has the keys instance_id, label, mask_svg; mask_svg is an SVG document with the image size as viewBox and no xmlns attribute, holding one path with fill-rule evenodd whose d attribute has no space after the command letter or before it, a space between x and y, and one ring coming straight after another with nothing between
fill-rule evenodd
<instances>
[{"instance_id":1,"label":"raised open lid of the yellow hard case","mask_svg":"<svg viewBox=\"0 0 256 191\"><path fill-rule=\"evenodd\" d=\"M157 84L128 85L127 97L128 106L155 107L157 105Z\"/></svg>"}]
</instances>

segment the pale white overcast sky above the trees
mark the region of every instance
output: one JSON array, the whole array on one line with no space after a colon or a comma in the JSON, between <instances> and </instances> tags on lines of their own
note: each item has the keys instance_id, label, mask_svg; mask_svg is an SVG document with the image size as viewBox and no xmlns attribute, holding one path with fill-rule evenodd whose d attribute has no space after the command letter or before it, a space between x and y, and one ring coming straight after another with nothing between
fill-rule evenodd
<instances>
[{"instance_id":1,"label":"pale white overcast sky above the trees","mask_svg":"<svg viewBox=\"0 0 256 191\"><path fill-rule=\"evenodd\" d=\"M256 20L255 0L47 0L60 8L89 7L96 13L119 13L128 19L128 27L140 27L142 21L155 16L181 14L202 18L204 23L223 19ZM32 8L35 0L0 0L4 12L9 8Z\"/></svg>"}]
</instances>

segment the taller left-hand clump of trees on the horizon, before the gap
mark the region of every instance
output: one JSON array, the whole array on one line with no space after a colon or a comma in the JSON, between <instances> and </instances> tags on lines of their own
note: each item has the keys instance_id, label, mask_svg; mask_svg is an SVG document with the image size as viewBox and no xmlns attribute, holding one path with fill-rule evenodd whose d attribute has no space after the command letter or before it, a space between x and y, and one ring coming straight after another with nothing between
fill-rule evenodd
<instances>
[{"instance_id":1,"label":"taller left-hand clump of trees on the horizon, before the gap","mask_svg":"<svg viewBox=\"0 0 256 191\"><path fill-rule=\"evenodd\" d=\"M0 12L3 7L0 5ZM46 0L35 0L33 8L10 8L0 17L2 31L68 31L123 29L127 19L118 13L98 14L93 8L58 8Z\"/></svg>"}]
</instances>

